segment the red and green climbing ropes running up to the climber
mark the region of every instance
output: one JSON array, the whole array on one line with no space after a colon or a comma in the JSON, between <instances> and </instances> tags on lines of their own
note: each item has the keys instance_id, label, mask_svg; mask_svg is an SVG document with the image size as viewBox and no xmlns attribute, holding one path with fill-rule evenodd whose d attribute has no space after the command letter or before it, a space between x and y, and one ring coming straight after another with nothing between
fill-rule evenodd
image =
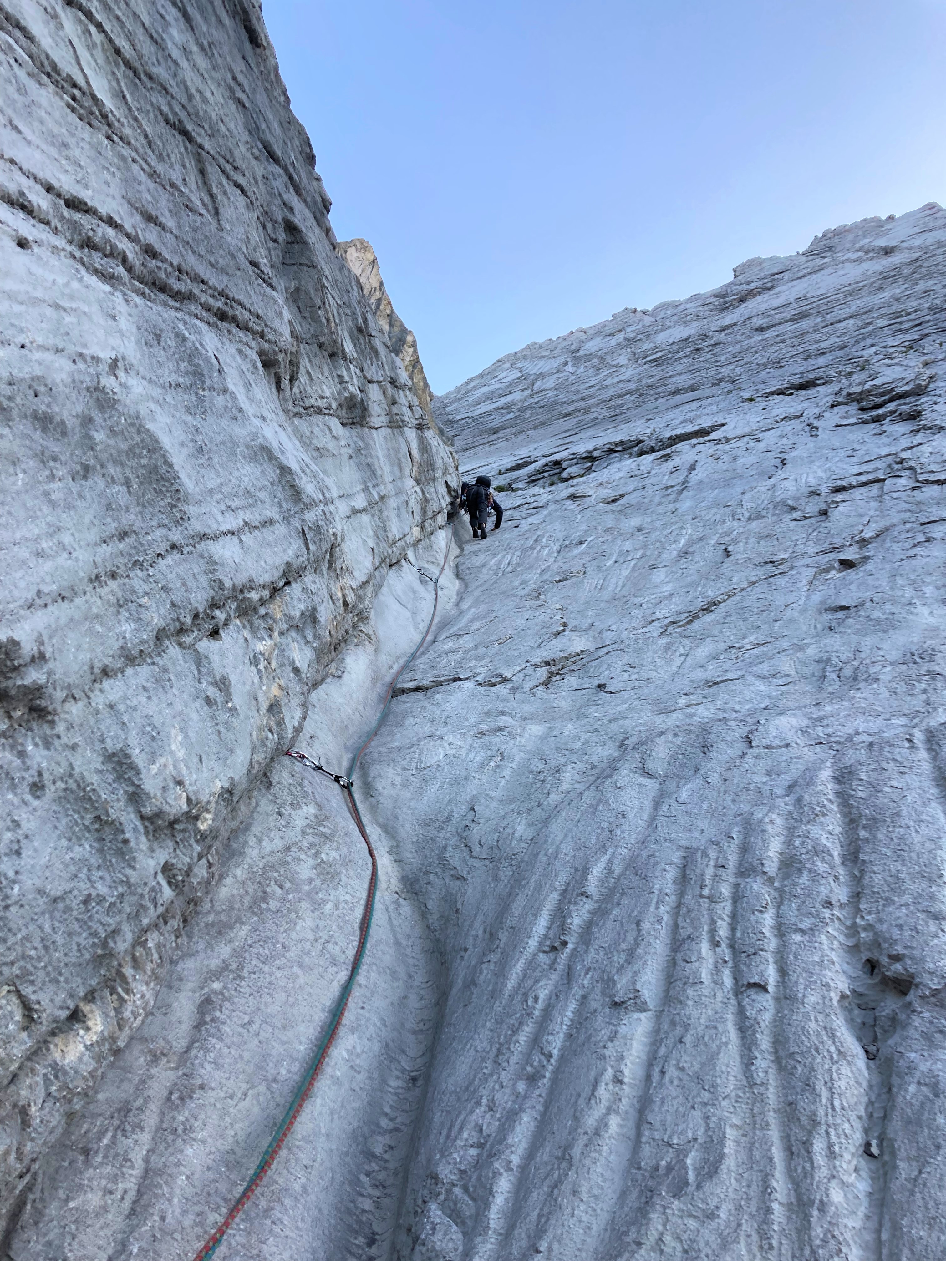
<instances>
[{"instance_id":1,"label":"red and green climbing ropes running up to the climber","mask_svg":"<svg viewBox=\"0 0 946 1261\"><path fill-rule=\"evenodd\" d=\"M318 1050L315 1052L315 1058L312 1061L312 1063L309 1064L308 1069L305 1071L305 1076L303 1077L301 1082L299 1083L299 1088L296 1090L295 1095L293 1096L293 1100L291 1100L289 1107L284 1112L283 1120L276 1126L276 1131L272 1135L272 1137L270 1139L269 1145L267 1145L266 1150L264 1151L262 1156L260 1158L260 1163L257 1164L256 1169L254 1169L254 1173L252 1173L252 1177L250 1178L250 1182L246 1184L246 1187L243 1187L243 1189L240 1193L240 1197L237 1198L236 1203L233 1204L233 1207L231 1208L231 1211L227 1213L227 1216L223 1218L223 1221L217 1227L217 1229L213 1232L213 1235L211 1235L211 1237L207 1240L207 1242L199 1250L199 1252L196 1253L194 1261L204 1261L206 1257L213 1256L213 1253L219 1247L219 1243L221 1243L221 1240L223 1238L223 1236L227 1233L227 1231L230 1229L230 1227L233 1224L233 1222L237 1219L237 1217L246 1208L246 1206L248 1204L250 1199L252 1199L252 1197L255 1195L255 1193L259 1190L260 1183L262 1182L262 1179L266 1177L266 1174L272 1168L272 1164L274 1164L276 1156L279 1155L280 1150L283 1149L283 1144L289 1137L289 1135L290 1135L290 1132L293 1130L293 1126L299 1120L299 1113L305 1107L305 1101L308 1100L309 1095L312 1095L312 1090L313 1090L313 1087L315 1084L315 1078L319 1076L319 1072L322 1071L322 1066L325 1063L325 1061L328 1058L328 1053L332 1049L332 1043L336 1040L336 1035L337 1035L337 1033L338 1033L338 1030L341 1028L342 1020L344 1018L346 1009L348 1008L348 1000L352 996L352 989L354 987L354 981L356 981L356 977L358 976L358 970L361 968L362 960L365 958L365 952L366 952L367 946L368 946L368 934L371 933L371 921L372 921L373 914L375 914L375 897L377 894L377 856L375 854L375 847L371 844L371 840L368 837L367 828L365 827L365 821L361 817L361 812L358 810L358 803L354 799L354 772L358 769L358 763L362 759L362 754L365 753L365 750L367 749L367 747L371 744L371 741L375 739L375 736L377 735L378 730L381 729L381 724L383 723L385 718L387 716L387 710L388 710L388 707L391 705L391 699L394 696L394 690L395 690L395 687L397 685L397 680L405 672L405 670L407 668L407 666L410 666L410 663L414 661L414 658L418 656L418 653L420 652L420 649L424 647L424 644L428 641L428 636L430 634L430 628L433 627L434 618L436 617L436 605L438 605L439 599L440 599L440 579L444 576L444 570L447 569L447 561L448 561L448 559L450 556L450 543L452 542L453 542L453 528L450 530L450 533L448 535L448 538L447 538L447 547L444 550L444 562L440 566L440 572L433 580L434 581L434 608L433 608L433 610L430 613L430 620L428 622L426 630L421 636L420 643L416 646L416 648L414 649L414 652L410 654L410 657L407 657L407 660L405 661L405 663L401 666L401 668L397 671L397 673L391 680L391 683L390 683L390 686L387 689L387 694L385 695L385 704L383 704L383 706L381 709L381 714L378 715L377 723L375 723L375 725L372 726L371 731L368 733L367 739L365 740L365 743L361 745L361 748L358 749L358 752L352 758L352 764L348 768L348 774L347 776L337 776L332 770L327 770L318 762L314 762L312 758L307 757L307 754L300 753L299 749L286 749L286 754L285 755L288 758L295 758L296 762L301 762L303 765L309 767L312 770L319 770L323 776L328 776L329 779L334 779L334 782L338 784L338 787L344 793L344 799L346 799L346 805L348 806L348 812L352 816L352 818L354 820L354 826L358 828L361 839L365 841L365 845L367 846L367 850L368 850L368 856L371 859L371 878L368 880L368 894L367 894L367 897L365 899L365 909L362 910L362 914L361 914L361 924L359 924L359 932L358 932L358 946L357 946L357 950L354 951L354 960L352 962L352 968L351 968L351 972L348 973L348 980L344 984L344 989L342 990L342 994L341 994L341 996L338 999L338 1002L336 1004L336 1009L332 1013L332 1019L329 1020L328 1030L327 1030L324 1038L322 1039L322 1042L319 1043Z\"/></svg>"}]
</instances>

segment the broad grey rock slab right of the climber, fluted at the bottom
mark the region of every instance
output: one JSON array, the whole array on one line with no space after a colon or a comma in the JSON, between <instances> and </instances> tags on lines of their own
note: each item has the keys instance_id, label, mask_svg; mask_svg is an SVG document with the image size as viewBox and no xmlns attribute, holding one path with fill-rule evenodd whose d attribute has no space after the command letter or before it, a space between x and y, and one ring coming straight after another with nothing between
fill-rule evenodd
<instances>
[{"instance_id":1,"label":"broad grey rock slab right of the climber, fluted at the bottom","mask_svg":"<svg viewBox=\"0 0 946 1261\"><path fill-rule=\"evenodd\" d=\"M370 764L449 961L395 1256L941 1256L945 230L438 400L513 489Z\"/></svg>"}]
</instances>

